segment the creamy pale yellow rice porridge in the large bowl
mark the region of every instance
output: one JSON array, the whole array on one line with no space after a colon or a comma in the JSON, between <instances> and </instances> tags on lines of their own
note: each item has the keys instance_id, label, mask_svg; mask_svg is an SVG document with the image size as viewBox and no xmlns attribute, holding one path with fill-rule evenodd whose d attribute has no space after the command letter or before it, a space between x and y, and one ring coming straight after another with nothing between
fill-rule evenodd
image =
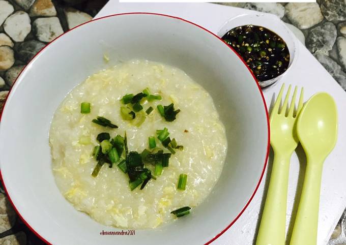
<instances>
[{"instance_id":1,"label":"creamy pale yellow rice porridge in the large bowl","mask_svg":"<svg viewBox=\"0 0 346 245\"><path fill-rule=\"evenodd\" d=\"M133 101L124 105L125 99L122 98L125 95L136 95L146 88L156 98L143 97L132 106ZM90 103L89 113L81 113L83 102ZM172 103L176 118L169 120L166 106ZM135 108L138 105L143 109L135 112L135 109L140 109ZM165 117L158 105L165 106ZM127 114L133 118L124 119L121 108L125 107L132 111L132 114ZM148 114L149 107L153 109ZM93 123L92 120L98 116L119 128ZM175 139L177 144L169 140L168 146L164 146L159 137L165 128L170 139ZM130 173L117 166L122 159L125 168L131 164L131 160L125 160L125 149L122 154L120 152L117 163L105 160L99 172L92 175L98 165L95 157L101 156L93 156L93 152L102 149L103 153L106 148L104 142L114 142L112 139L117 135L124 138L125 132L129 152L140 154L144 149L148 152L156 149L156 155L151 152L150 156L159 156L160 150L171 154L169 165L157 175L157 161L153 164L143 160L143 166L151 174L146 175L149 181L142 190L139 185L131 191ZM101 140L97 140L100 133L109 133L110 139L100 143ZM149 147L149 137L155 138L154 149ZM49 142L52 171L65 198L77 210L88 213L99 223L132 229L155 228L174 221L177 216L170 212L181 207L188 206L193 211L217 182L227 151L225 129L207 91L182 70L147 60L121 63L91 75L75 87L54 114ZM95 147L98 145L101 148ZM109 162L113 156L107 154L102 156ZM143 155L136 156L143 158ZM185 190L178 189L181 174L187 176L186 186L182 183Z\"/></svg>"}]
</instances>

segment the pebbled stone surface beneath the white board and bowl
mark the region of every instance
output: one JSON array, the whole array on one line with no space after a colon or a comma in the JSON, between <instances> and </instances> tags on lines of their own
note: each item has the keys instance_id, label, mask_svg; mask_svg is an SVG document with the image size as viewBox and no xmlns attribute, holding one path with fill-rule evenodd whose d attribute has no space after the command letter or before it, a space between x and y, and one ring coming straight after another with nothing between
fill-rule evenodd
<instances>
[{"instance_id":1,"label":"pebbled stone surface beneath the white board and bowl","mask_svg":"<svg viewBox=\"0 0 346 245\"><path fill-rule=\"evenodd\" d=\"M47 43L89 21L107 0L0 0L0 111L22 68ZM346 90L346 0L225 3L279 16ZM0 245L44 244L19 219L0 186ZM328 245L346 245L346 212ZM303 244L302 244L303 245Z\"/></svg>"}]
</instances>

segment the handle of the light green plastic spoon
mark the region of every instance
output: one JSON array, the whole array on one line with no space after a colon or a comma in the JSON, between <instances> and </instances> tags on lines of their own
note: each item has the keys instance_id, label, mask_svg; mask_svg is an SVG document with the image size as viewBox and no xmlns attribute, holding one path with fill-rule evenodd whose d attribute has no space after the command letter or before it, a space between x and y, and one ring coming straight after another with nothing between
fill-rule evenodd
<instances>
[{"instance_id":1,"label":"handle of the light green plastic spoon","mask_svg":"<svg viewBox=\"0 0 346 245\"><path fill-rule=\"evenodd\" d=\"M322 169L322 163L309 163L307 159L303 190L290 245L316 245Z\"/></svg>"}]
</instances>

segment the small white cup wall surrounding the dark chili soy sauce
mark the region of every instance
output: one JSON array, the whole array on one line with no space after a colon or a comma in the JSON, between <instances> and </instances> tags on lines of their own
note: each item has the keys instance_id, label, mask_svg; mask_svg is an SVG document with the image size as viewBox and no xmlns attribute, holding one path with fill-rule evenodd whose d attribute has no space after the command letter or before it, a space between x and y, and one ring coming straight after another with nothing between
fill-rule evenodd
<instances>
[{"instance_id":1,"label":"small white cup wall surrounding the dark chili soy sauce","mask_svg":"<svg viewBox=\"0 0 346 245\"><path fill-rule=\"evenodd\" d=\"M285 41L287 48L289 49L290 52L290 62L289 62L289 67L285 72L283 72L281 75L274 77L270 80L266 81L261 81L260 86L261 87L266 87L274 82L278 81L281 79L287 72L290 71L290 68L293 66L296 56L297 56L297 39L294 38L294 34L291 32L289 27L285 25L285 23L280 20L276 15L273 14L261 14L261 13L256 13L256 14L243 14L236 16L232 19L229 19L222 25L220 28L219 32L217 35L222 38L223 35L225 35L229 30L237 27L237 26L242 26L242 25L258 25L258 26L263 26L266 27L267 29L270 29L272 32L278 34L283 41Z\"/></svg>"}]
</instances>

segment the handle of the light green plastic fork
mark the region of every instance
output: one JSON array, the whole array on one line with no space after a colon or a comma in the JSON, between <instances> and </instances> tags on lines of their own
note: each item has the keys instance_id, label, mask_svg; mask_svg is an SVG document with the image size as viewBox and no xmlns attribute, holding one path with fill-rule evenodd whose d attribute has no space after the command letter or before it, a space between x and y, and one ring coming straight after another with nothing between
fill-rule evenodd
<instances>
[{"instance_id":1,"label":"handle of the light green plastic fork","mask_svg":"<svg viewBox=\"0 0 346 245\"><path fill-rule=\"evenodd\" d=\"M256 245L284 245L291 154L274 152L272 173Z\"/></svg>"}]
</instances>

